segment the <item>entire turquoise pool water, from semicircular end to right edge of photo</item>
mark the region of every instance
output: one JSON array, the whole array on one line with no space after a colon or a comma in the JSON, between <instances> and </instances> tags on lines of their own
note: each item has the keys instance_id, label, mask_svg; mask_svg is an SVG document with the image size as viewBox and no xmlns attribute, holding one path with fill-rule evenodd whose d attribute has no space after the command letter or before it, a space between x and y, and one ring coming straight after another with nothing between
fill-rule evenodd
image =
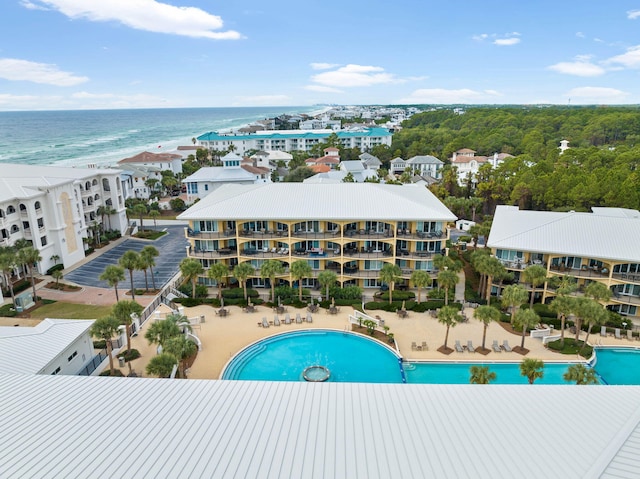
<instances>
[{"instance_id":1,"label":"entire turquoise pool water, from semicircular end to right edge of photo","mask_svg":"<svg viewBox=\"0 0 640 479\"><path fill-rule=\"evenodd\" d=\"M595 370L602 384L640 385L640 349L598 348L596 355ZM544 376L535 384L569 384L563 375L570 364L545 363ZM328 370L329 382L469 384L472 365L488 366L495 372L492 384L528 384L520 374L519 362L402 362L378 341L330 330L294 331L254 343L227 364L221 377L304 381L305 369L322 366Z\"/></svg>"}]
</instances>

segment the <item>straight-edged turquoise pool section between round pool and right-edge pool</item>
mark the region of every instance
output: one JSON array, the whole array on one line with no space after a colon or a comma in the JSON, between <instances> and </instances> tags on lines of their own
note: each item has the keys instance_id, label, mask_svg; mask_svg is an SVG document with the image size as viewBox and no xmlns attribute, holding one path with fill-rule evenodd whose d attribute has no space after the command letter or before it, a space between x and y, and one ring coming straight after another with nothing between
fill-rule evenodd
<instances>
[{"instance_id":1,"label":"straight-edged turquoise pool section between round pool and right-edge pool","mask_svg":"<svg viewBox=\"0 0 640 479\"><path fill-rule=\"evenodd\" d=\"M414 384L469 384L470 363L409 363L405 364L408 383ZM529 380L520 374L520 363L482 363L496 373L491 384L529 384ZM535 380L535 384L568 384L562 378L568 364L545 363L544 376Z\"/></svg>"}]
</instances>

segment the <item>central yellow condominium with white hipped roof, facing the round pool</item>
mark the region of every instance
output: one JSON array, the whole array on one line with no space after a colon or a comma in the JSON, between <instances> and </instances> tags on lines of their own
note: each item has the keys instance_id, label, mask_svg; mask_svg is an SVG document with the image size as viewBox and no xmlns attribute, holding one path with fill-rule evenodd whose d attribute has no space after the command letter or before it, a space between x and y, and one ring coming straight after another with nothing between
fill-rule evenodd
<instances>
[{"instance_id":1,"label":"central yellow condominium with white hipped roof, facing the round pool","mask_svg":"<svg viewBox=\"0 0 640 479\"><path fill-rule=\"evenodd\" d=\"M281 261L279 282L292 284L289 266L304 259L313 270L304 287L332 270L342 285L377 288L385 263L400 266L405 282L413 270L432 271L456 217L422 186L271 183L224 185L179 219L189 221L189 257L205 269L248 262L254 287L269 286L260 278L265 260ZM213 284L206 274L200 282Z\"/></svg>"}]
</instances>

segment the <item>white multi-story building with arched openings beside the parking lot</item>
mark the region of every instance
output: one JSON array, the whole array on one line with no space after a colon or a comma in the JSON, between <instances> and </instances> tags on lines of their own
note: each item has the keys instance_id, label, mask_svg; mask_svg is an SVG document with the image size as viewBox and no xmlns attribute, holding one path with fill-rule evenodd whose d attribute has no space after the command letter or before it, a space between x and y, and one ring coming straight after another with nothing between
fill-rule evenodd
<instances>
[{"instance_id":1,"label":"white multi-story building with arched openings beside the parking lot","mask_svg":"<svg viewBox=\"0 0 640 479\"><path fill-rule=\"evenodd\" d=\"M31 241L42 257L40 273L82 260L83 240L106 207L107 229L127 227L120 170L3 164L2 171L0 245Z\"/></svg>"}]
</instances>

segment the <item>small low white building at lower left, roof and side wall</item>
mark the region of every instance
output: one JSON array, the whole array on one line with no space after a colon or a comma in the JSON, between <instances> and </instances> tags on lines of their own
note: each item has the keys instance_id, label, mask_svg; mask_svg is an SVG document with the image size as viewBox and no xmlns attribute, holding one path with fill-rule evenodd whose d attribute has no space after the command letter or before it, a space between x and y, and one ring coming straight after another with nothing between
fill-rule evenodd
<instances>
[{"instance_id":1,"label":"small low white building at lower left, roof and side wall","mask_svg":"<svg viewBox=\"0 0 640 479\"><path fill-rule=\"evenodd\" d=\"M80 373L95 354L90 332L93 323L46 318L33 327L0 326L0 373Z\"/></svg>"}]
</instances>

